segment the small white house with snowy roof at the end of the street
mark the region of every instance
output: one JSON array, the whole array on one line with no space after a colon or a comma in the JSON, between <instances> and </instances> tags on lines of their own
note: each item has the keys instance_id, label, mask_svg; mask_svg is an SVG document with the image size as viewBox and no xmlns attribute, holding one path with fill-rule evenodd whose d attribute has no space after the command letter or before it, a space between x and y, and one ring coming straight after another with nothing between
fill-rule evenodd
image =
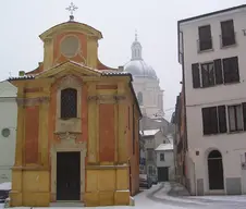
<instances>
[{"instance_id":1,"label":"small white house with snowy roof at the end of the street","mask_svg":"<svg viewBox=\"0 0 246 209\"><path fill-rule=\"evenodd\" d=\"M174 180L173 144L160 144L156 148L158 182Z\"/></svg>"}]
</instances>

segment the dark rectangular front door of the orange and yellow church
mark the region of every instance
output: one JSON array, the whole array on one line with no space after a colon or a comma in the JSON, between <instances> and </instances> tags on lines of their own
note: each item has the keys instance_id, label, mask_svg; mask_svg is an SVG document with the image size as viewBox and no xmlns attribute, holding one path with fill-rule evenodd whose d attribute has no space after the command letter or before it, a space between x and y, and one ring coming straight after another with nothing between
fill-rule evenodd
<instances>
[{"instance_id":1,"label":"dark rectangular front door of the orange and yellow church","mask_svg":"<svg viewBox=\"0 0 246 209\"><path fill-rule=\"evenodd\" d=\"M57 152L57 200L81 199L81 152Z\"/></svg>"}]
</instances>

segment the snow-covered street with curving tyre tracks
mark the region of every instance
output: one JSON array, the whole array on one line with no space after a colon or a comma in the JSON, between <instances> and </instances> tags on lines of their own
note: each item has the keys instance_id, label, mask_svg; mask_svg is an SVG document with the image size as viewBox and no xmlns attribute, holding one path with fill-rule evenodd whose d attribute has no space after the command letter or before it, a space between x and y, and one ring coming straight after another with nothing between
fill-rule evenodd
<instances>
[{"instance_id":1,"label":"snow-covered street with curving tyre tracks","mask_svg":"<svg viewBox=\"0 0 246 209\"><path fill-rule=\"evenodd\" d=\"M135 196L135 207L90 207L90 209L246 209L246 196L177 197L173 188L175 188L175 183L155 185ZM62 207L62 209L65 209L65 207Z\"/></svg>"}]
</instances>

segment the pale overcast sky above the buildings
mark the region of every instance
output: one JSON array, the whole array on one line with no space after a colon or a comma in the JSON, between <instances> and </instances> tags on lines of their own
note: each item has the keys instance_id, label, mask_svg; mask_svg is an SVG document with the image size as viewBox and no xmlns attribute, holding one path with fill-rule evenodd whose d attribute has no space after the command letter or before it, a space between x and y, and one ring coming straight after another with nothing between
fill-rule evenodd
<instances>
[{"instance_id":1,"label":"pale overcast sky above the buildings","mask_svg":"<svg viewBox=\"0 0 246 209\"><path fill-rule=\"evenodd\" d=\"M164 89L164 110L170 118L181 90L177 63L176 22L202 13L245 3L245 0L74 0L75 21L86 23L103 35L99 58L116 67L131 59L135 29L143 46L144 60L150 64ZM69 0L1 1L0 81L32 71L42 61L39 35L69 21Z\"/></svg>"}]
</instances>

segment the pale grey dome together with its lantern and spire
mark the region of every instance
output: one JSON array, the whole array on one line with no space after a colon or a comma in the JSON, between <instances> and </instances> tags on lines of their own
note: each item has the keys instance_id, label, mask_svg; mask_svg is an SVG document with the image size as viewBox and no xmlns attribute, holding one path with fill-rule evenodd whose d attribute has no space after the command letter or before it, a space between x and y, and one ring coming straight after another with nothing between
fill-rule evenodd
<instances>
[{"instance_id":1,"label":"pale grey dome together with its lantern and spire","mask_svg":"<svg viewBox=\"0 0 246 209\"><path fill-rule=\"evenodd\" d=\"M132 45L132 59L125 64L124 70L125 72L131 73L134 77L157 79L155 70L142 58L142 45L137 40L137 35L135 37L135 41Z\"/></svg>"}]
</instances>

